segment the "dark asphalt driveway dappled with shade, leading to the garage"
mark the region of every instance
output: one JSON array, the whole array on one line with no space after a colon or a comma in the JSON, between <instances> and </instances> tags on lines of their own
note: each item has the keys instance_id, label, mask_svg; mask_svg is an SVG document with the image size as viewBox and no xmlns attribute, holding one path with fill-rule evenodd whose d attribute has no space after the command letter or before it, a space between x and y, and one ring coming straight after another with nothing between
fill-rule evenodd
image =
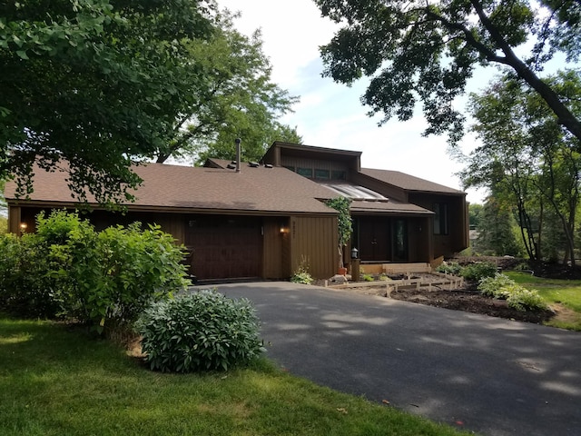
<instances>
[{"instance_id":1,"label":"dark asphalt driveway dappled with shade, leading to the garage","mask_svg":"<svg viewBox=\"0 0 581 436\"><path fill-rule=\"evenodd\" d=\"M289 282L216 288L254 303L295 375L483 435L581 435L579 332Z\"/></svg>"}]
</instances>

